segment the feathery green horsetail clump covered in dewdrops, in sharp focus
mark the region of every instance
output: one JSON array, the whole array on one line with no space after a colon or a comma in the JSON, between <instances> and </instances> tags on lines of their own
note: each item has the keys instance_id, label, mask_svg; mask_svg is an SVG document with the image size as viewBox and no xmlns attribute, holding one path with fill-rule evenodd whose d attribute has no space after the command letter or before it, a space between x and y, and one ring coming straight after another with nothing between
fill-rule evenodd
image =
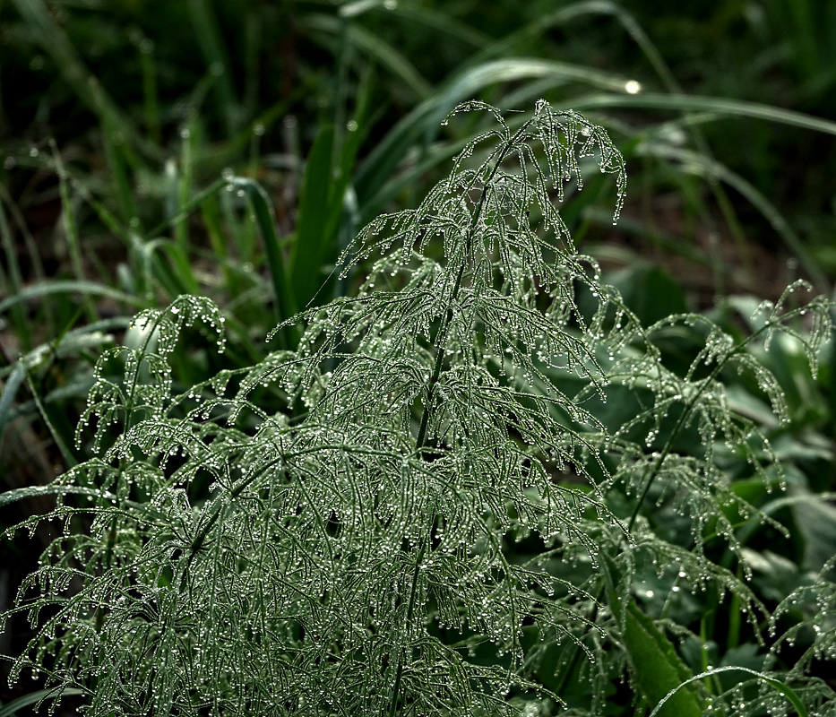
<instances>
[{"instance_id":1,"label":"feathery green horsetail clump covered in dewdrops, in sharp focus","mask_svg":"<svg viewBox=\"0 0 836 717\"><path fill-rule=\"evenodd\" d=\"M747 347L788 333L814 363L829 305L790 307L799 282L743 341L694 314L642 327L553 201L591 158L616 177L617 216L625 167L604 130L543 101L510 124L476 101L452 114L465 110L496 125L418 209L349 245L343 275L383 256L358 297L276 328L300 327L296 350L175 395L167 357L184 324L223 348L218 309L181 296L136 317L140 345L99 358L77 433L94 422L98 457L0 496L57 497L7 538L65 526L22 586L15 610L39 631L13 679L47 670L45 698L81 690L96 717L603 714L625 675L627 701L659 714L833 710L805 671L832 659L832 621L816 618L794 671L749 669L710 695L713 673L694 678L665 632L688 629L634 597L647 575L668 601L729 592L763 642L737 529L780 526L723 460L737 452L769 489L782 479L722 374L751 373L784 419ZM656 342L684 331L703 348L677 372ZM267 389L286 413L259 407ZM625 406L617 425L608 401ZM678 451L689 431L701 453ZM190 498L199 481L205 501ZM685 530L652 520L659 506ZM728 565L707 555L713 538ZM822 615L828 575L805 588Z\"/></svg>"}]
</instances>

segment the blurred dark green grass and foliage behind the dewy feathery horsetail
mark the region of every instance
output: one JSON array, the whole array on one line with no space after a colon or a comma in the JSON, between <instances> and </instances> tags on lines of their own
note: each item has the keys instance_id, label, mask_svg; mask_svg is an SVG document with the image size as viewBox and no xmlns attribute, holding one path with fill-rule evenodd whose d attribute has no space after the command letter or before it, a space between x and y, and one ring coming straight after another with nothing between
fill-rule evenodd
<instances>
[{"instance_id":1,"label":"blurred dark green grass and foliage behind the dewy feathery horsetail","mask_svg":"<svg viewBox=\"0 0 836 717\"><path fill-rule=\"evenodd\" d=\"M621 220L603 175L562 212L646 322L702 311L740 336L789 281L832 296L832 2L0 0L0 56L2 489L90 455L74 428L92 367L141 340L136 311L196 293L226 316L223 356L199 334L177 348L177 390L292 344L264 337L311 301L352 295L363 272L334 280L340 248L446 174L482 128L440 125L465 99L525 112L544 98L607 127L628 168ZM685 367L702 337L666 341ZM728 454L741 495L797 528L789 542L747 534L774 605L836 552L836 364L830 343L816 377L791 341L752 350L792 420L777 426L756 387L728 376L738 409L776 441L797 495L819 497L775 503ZM47 507L4 508L0 527ZM0 611L37 552L0 549ZM708 644L756 650L751 635L720 638L728 610L706 615L692 616L703 658ZM7 629L0 652L28 630ZM20 689L3 679L0 699Z\"/></svg>"}]
</instances>

